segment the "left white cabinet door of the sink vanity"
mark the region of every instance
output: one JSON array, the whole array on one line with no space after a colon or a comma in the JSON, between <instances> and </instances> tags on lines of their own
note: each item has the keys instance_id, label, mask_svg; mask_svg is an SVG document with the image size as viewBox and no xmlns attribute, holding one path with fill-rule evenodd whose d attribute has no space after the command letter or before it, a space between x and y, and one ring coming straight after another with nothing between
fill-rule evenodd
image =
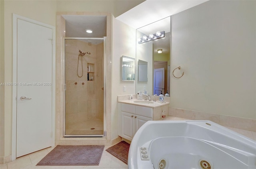
<instances>
[{"instance_id":1,"label":"left white cabinet door of the sink vanity","mask_svg":"<svg viewBox=\"0 0 256 169\"><path fill-rule=\"evenodd\" d=\"M121 112L121 137L132 140L134 136L134 114Z\"/></svg>"}]
</instances>

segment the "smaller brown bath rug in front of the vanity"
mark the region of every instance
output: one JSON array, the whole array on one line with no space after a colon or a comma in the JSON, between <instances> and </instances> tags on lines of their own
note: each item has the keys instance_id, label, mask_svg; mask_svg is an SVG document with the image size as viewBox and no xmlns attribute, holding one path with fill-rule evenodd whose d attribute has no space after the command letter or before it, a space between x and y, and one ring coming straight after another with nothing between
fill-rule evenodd
<instances>
[{"instance_id":1,"label":"smaller brown bath rug in front of the vanity","mask_svg":"<svg viewBox=\"0 0 256 169\"><path fill-rule=\"evenodd\" d=\"M125 141L121 141L112 147L106 149L106 151L116 158L120 159L124 163L128 163L128 152L129 152L130 144Z\"/></svg>"}]
</instances>

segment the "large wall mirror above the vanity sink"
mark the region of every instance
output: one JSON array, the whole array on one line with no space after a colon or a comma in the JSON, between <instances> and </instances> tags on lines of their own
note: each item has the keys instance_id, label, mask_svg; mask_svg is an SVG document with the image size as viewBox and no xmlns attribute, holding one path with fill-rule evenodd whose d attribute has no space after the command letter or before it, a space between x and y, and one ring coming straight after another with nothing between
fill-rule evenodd
<instances>
[{"instance_id":1,"label":"large wall mirror above the vanity sink","mask_svg":"<svg viewBox=\"0 0 256 169\"><path fill-rule=\"evenodd\" d=\"M170 91L170 18L169 16L136 29L136 39L143 37L143 35L149 36L150 33L155 34L157 31L165 31L165 37L157 39L157 41L153 40L140 44L136 41L136 59L148 62L147 81L136 81L136 92L146 90L148 94L159 95L159 91L162 91L163 94L167 90L168 93ZM158 53L158 49L162 49L162 53ZM160 69L164 69L164 71L161 71L164 75L160 75L160 71L158 71ZM139 70L136 70L136 75L139 79Z\"/></svg>"}]
</instances>

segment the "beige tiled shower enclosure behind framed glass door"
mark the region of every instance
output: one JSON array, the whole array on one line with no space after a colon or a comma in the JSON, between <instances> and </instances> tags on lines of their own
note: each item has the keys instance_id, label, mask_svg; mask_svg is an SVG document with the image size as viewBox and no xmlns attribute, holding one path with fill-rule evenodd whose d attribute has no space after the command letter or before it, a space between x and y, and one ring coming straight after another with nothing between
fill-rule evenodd
<instances>
[{"instance_id":1,"label":"beige tiled shower enclosure behind framed glass door","mask_svg":"<svg viewBox=\"0 0 256 169\"><path fill-rule=\"evenodd\" d=\"M105 38L64 37L64 137L104 137Z\"/></svg>"}]
</instances>

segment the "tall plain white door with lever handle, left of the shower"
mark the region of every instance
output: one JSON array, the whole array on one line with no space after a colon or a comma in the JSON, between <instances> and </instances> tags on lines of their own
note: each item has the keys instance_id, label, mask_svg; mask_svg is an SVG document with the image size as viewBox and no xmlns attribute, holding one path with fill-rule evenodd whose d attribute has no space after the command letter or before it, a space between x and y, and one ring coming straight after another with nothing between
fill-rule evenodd
<instances>
[{"instance_id":1,"label":"tall plain white door with lever handle, left of the shower","mask_svg":"<svg viewBox=\"0 0 256 169\"><path fill-rule=\"evenodd\" d=\"M52 38L17 19L16 157L52 146Z\"/></svg>"}]
</instances>

